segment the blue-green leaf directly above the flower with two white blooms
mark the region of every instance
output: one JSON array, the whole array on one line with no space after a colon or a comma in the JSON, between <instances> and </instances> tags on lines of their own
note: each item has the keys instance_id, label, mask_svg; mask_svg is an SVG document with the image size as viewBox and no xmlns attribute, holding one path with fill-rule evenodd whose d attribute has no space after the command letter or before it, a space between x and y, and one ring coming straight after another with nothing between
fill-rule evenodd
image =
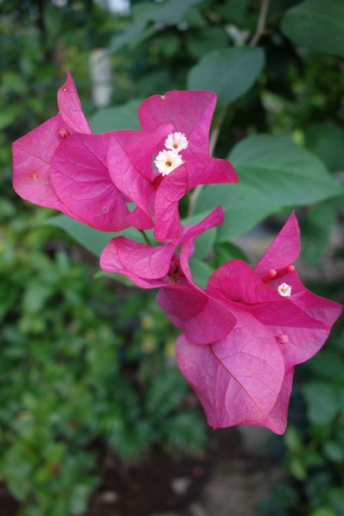
<instances>
[{"instance_id":1,"label":"blue-green leaf directly above the flower with two white blooms","mask_svg":"<svg viewBox=\"0 0 344 516\"><path fill-rule=\"evenodd\" d=\"M188 75L189 89L211 89L224 107L246 94L264 66L261 48L228 48L206 54Z\"/></svg>"}]
</instances>

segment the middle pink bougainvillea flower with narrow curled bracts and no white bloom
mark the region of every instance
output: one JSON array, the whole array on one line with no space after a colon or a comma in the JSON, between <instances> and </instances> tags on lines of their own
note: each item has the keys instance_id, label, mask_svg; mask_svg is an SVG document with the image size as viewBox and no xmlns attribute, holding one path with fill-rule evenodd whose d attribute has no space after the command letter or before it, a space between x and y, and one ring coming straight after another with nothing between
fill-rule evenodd
<instances>
[{"instance_id":1,"label":"middle pink bougainvillea flower with narrow curled bracts and no white bloom","mask_svg":"<svg viewBox=\"0 0 344 516\"><path fill-rule=\"evenodd\" d=\"M162 246L140 244L125 237L114 238L103 250L100 267L127 276L141 288L169 286L169 293L178 305L173 321L172 301L171 320L176 325L180 321L187 336L192 336L197 343L206 343L214 335L222 338L235 325L235 318L228 314L222 303L204 293L190 277L187 279L180 264L180 256L189 252L191 242L222 221L222 208L216 208L199 224L186 227L178 239ZM180 255L176 252L179 246Z\"/></svg>"}]
</instances>

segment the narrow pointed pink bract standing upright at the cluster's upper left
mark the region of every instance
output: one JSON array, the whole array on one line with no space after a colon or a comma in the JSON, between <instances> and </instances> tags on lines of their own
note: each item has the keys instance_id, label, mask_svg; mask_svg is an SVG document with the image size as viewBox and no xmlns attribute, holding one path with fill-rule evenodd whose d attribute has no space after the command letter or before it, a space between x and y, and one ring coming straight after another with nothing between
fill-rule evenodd
<instances>
[{"instance_id":1,"label":"narrow pointed pink bract standing upright at the cluster's upper left","mask_svg":"<svg viewBox=\"0 0 344 516\"><path fill-rule=\"evenodd\" d=\"M67 70L67 80L65 84L58 89L57 103L63 120L72 131L85 134L92 133L83 114L83 108L81 107L74 80L69 70Z\"/></svg>"}]
</instances>

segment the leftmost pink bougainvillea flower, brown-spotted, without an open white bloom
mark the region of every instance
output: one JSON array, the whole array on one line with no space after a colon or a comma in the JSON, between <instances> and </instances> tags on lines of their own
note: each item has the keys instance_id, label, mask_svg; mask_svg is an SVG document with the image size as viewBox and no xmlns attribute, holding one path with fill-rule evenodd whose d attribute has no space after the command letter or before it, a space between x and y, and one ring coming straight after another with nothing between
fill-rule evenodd
<instances>
[{"instance_id":1,"label":"leftmost pink bougainvillea flower, brown-spotted, without an open white bloom","mask_svg":"<svg viewBox=\"0 0 344 516\"><path fill-rule=\"evenodd\" d=\"M100 230L129 225L129 210L105 164L109 135L93 135L67 72L59 113L13 144L13 186L21 197Z\"/></svg>"}]
</instances>

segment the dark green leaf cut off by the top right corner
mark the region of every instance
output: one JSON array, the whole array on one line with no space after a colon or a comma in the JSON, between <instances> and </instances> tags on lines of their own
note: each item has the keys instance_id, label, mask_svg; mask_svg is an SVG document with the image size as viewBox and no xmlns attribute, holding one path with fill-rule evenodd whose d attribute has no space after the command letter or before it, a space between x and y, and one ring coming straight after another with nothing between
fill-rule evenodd
<instances>
[{"instance_id":1,"label":"dark green leaf cut off by the top right corner","mask_svg":"<svg viewBox=\"0 0 344 516\"><path fill-rule=\"evenodd\" d=\"M344 57L343 0L305 0L286 12L281 28L301 47Z\"/></svg>"}]
</instances>

